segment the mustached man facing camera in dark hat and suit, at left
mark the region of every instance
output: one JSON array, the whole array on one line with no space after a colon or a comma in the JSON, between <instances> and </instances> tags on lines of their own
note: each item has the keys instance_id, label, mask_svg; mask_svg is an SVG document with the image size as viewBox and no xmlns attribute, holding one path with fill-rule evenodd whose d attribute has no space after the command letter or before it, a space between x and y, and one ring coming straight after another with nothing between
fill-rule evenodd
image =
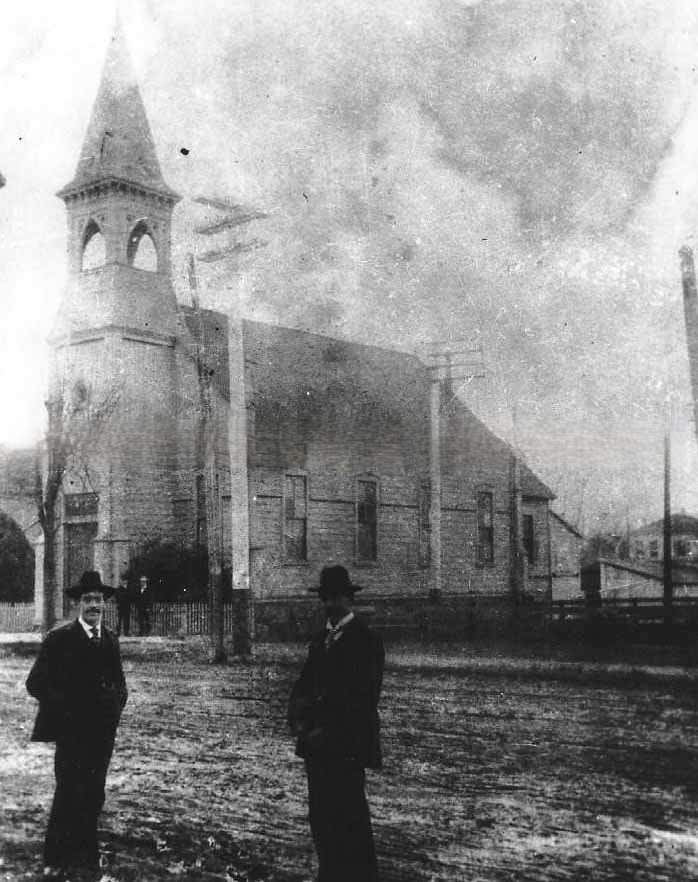
<instances>
[{"instance_id":1,"label":"mustached man facing camera in dark hat and suit, at left","mask_svg":"<svg viewBox=\"0 0 698 882\"><path fill-rule=\"evenodd\" d=\"M66 880L70 869L99 870L97 819L127 697L119 642L102 624L112 593L99 573L83 573L66 591L78 602L77 619L46 635L27 678L29 694L39 700L32 741L56 742L56 790L44 841L47 880Z\"/></svg>"}]
</instances>

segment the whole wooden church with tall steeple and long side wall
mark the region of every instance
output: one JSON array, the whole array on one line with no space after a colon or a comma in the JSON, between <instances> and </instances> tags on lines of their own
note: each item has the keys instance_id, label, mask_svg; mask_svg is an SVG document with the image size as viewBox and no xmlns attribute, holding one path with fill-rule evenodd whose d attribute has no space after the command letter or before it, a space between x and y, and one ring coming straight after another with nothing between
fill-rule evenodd
<instances>
[{"instance_id":1,"label":"whole wooden church with tall steeple and long side wall","mask_svg":"<svg viewBox=\"0 0 698 882\"><path fill-rule=\"evenodd\" d=\"M552 494L448 377L404 352L231 327L177 302L180 197L163 178L118 26L58 196L68 279L48 401L72 432L58 605L84 569L116 584L153 541L220 542L262 628L289 605L305 609L328 563L347 566L376 607L426 602L435 588L469 608L547 596ZM40 617L38 559L37 573Z\"/></svg>"}]
</instances>

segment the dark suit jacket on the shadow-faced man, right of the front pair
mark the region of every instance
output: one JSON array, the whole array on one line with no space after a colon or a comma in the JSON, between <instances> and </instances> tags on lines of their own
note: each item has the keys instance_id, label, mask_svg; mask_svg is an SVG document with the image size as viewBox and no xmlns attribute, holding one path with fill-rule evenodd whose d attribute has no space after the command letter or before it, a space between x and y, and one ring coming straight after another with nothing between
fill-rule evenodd
<instances>
[{"instance_id":1,"label":"dark suit jacket on the shadow-faced man, right of the front pair","mask_svg":"<svg viewBox=\"0 0 698 882\"><path fill-rule=\"evenodd\" d=\"M379 769L383 641L356 618L329 649L325 637L324 630L313 637L291 693L288 720L298 734L296 753Z\"/></svg>"}]
</instances>

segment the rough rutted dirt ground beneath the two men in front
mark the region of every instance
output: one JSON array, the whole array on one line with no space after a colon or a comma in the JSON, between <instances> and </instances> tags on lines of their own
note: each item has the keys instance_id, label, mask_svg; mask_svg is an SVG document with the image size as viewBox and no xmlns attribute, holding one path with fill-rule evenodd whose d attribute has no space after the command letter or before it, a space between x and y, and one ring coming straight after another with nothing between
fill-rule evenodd
<instances>
[{"instance_id":1,"label":"rough rutted dirt ground beneath the two men in front","mask_svg":"<svg viewBox=\"0 0 698 882\"><path fill-rule=\"evenodd\" d=\"M102 816L103 882L309 882L285 702L302 647L210 666L195 641L122 644L130 699ZM53 785L29 742L35 646L0 646L0 882L32 879ZM382 878L698 879L698 672L388 647ZM357 880L361 882L361 880Z\"/></svg>"}]
</instances>

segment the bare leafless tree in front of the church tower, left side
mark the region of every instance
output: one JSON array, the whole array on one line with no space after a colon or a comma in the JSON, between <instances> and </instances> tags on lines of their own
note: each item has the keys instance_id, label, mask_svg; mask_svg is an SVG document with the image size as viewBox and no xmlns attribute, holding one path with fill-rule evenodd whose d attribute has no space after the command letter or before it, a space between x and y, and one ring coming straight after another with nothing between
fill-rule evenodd
<instances>
[{"instance_id":1,"label":"bare leafless tree in front of the church tower, left side","mask_svg":"<svg viewBox=\"0 0 698 882\"><path fill-rule=\"evenodd\" d=\"M94 402L87 387L76 384L70 400L64 388L46 401L48 430L43 450L37 450L35 499L44 535L43 610L44 633L56 623L56 535L61 525L59 497L66 473L82 474L90 479L90 452L117 407L121 390L114 387L99 402Z\"/></svg>"}]
</instances>

